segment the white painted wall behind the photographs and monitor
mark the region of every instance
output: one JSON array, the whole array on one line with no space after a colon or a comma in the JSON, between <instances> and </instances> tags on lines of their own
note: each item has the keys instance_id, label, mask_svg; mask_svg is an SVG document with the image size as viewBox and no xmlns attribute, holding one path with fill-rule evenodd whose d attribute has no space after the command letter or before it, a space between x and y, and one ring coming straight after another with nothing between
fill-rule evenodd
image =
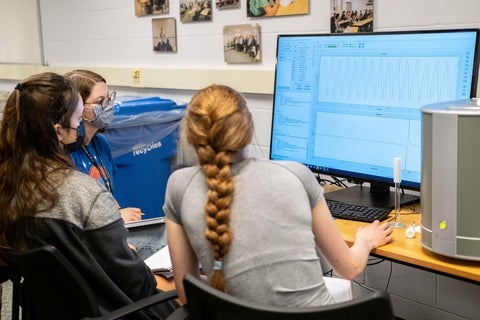
<instances>
[{"instance_id":1,"label":"white painted wall behind the photographs and monitor","mask_svg":"<svg viewBox=\"0 0 480 320\"><path fill-rule=\"evenodd\" d=\"M11 0L0 0L0 3L7 1ZM134 1L39 0L45 62L54 69L141 68L142 72L156 68L187 69L191 71L191 77L185 77L186 83L198 82L197 78L206 76L209 70L212 73L231 71L232 77L240 70L251 73L251 77L245 80L251 82L251 87L265 86L265 83L256 83L259 79L257 74L262 70L274 72L277 34L328 33L331 7L341 3L340 0L310 0L308 15L247 18L246 0L241 0L240 9L213 8L210 22L182 23L178 0L170 0L169 14L144 17L135 16ZM353 0L352 5L358 6L358 3L366 1ZM480 27L478 0L374 0L374 10L375 31ZM22 18L21 12L11 12L11 15ZM151 20L162 17L176 18L178 53L156 53L152 50ZM247 23L260 25L262 62L226 64L223 58L223 27ZM2 69L0 62L0 91L10 91L18 80L23 79L22 73L22 77L16 77L16 70ZM115 76L105 76L110 83L118 83ZM218 81L225 79L218 78ZM270 86L273 91L273 81L267 84L268 88ZM121 85L112 89L117 90L119 95L160 95L182 102L188 102L195 91L161 85L156 88ZM268 157L273 96L271 93L251 92L254 91L245 91L256 126L251 152L255 156Z\"/></svg>"}]
</instances>

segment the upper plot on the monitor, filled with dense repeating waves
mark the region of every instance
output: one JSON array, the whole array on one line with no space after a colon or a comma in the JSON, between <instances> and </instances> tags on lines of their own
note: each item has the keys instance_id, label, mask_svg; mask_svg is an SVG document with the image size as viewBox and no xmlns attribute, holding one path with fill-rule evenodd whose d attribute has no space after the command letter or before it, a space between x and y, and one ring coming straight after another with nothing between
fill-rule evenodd
<instances>
[{"instance_id":1,"label":"upper plot on the monitor, filled with dense repeating waves","mask_svg":"<svg viewBox=\"0 0 480 320\"><path fill-rule=\"evenodd\" d=\"M322 57L318 101L422 106L452 100L457 57Z\"/></svg>"}]
</instances>

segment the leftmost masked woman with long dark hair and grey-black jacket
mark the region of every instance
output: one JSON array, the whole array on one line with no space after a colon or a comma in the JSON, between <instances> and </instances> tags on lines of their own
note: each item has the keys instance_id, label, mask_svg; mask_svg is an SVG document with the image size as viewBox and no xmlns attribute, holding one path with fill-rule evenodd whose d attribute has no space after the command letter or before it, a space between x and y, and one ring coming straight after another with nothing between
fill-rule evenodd
<instances>
[{"instance_id":1,"label":"leftmost masked woman with long dark hair and grey-black jacket","mask_svg":"<svg viewBox=\"0 0 480 320\"><path fill-rule=\"evenodd\" d=\"M42 73L17 84L0 127L0 265L4 250L55 246L90 285L106 313L156 293L155 278L127 245L112 194L74 170L83 101L61 75ZM161 304L136 319L165 318Z\"/></svg>"}]
</instances>

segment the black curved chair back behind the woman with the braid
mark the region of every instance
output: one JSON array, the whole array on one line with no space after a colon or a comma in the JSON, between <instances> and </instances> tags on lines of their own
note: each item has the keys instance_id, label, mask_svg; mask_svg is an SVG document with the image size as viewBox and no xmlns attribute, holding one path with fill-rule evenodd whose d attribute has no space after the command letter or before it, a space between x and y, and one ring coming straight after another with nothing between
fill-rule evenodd
<instances>
[{"instance_id":1,"label":"black curved chair back behind the woman with the braid","mask_svg":"<svg viewBox=\"0 0 480 320\"><path fill-rule=\"evenodd\" d=\"M258 305L215 290L192 275L183 279L190 320L388 320L394 319L389 295L371 294L331 305L287 308Z\"/></svg>"}]
</instances>

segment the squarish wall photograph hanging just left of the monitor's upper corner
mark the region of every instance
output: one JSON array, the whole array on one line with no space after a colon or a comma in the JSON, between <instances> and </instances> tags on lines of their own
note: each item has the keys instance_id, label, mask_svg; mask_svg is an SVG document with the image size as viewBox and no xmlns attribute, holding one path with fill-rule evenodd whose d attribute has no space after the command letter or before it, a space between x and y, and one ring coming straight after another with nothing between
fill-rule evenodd
<instances>
[{"instance_id":1,"label":"squarish wall photograph hanging just left of the monitor's upper corner","mask_svg":"<svg viewBox=\"0 0 480 320\"><path fill-rule=\"evenodd\" d=\"M260 62L260 25L255 23L223 27L223 53L227 63Z\"/></svg>"}]
</instances>

